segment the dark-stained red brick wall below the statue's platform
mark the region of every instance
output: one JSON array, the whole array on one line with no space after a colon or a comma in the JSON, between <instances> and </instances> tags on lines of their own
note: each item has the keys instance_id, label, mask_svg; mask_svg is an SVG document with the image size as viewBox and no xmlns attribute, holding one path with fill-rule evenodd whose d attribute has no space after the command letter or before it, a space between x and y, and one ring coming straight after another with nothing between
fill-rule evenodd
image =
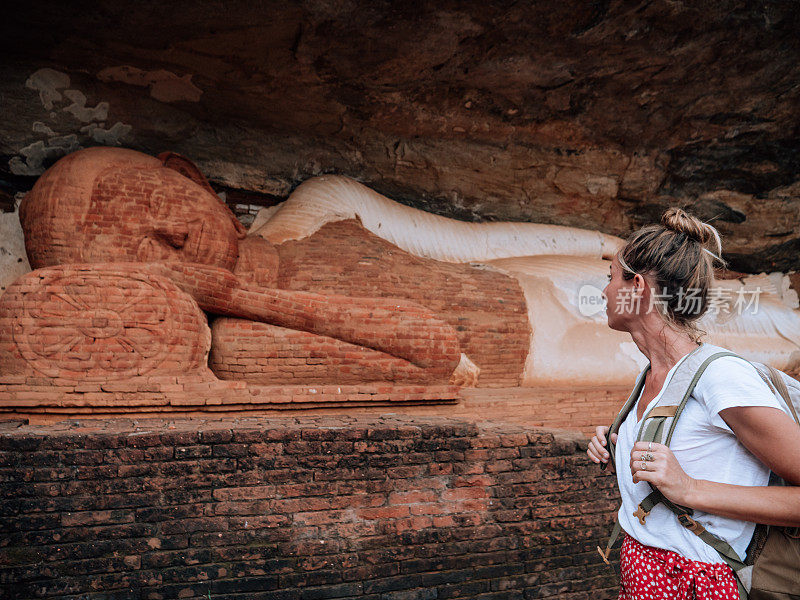
<instances>
[{"instance_id":1,"label":"dark-stained red brick wall below the statue's platform","mask_svg":"<svg viewBox=\"0 0 800 600\"><path fill-rule=\"evenodd\" d=\"M615 597L585 440L443 418L0 433L0 598Z\"/></svg>"}]
</instances>

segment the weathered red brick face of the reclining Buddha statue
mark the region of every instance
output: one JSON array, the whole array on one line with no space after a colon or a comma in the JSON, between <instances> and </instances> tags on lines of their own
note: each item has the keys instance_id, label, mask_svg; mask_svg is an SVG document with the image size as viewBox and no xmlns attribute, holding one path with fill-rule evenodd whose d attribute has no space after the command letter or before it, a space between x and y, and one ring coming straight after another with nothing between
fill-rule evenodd
<instances>
[{"instance_id":1,"label":"weathered red brick face of the reclining Buddha statue","mask_svg":"<svg viewBox=\"0 0 800 600\"><path fill-rule=\"evenodd\" d=\"M189 262L232 270L239 233L219 199L172 169L114 169L83 218L86 262Z\"/></svg>"}]
</instances>

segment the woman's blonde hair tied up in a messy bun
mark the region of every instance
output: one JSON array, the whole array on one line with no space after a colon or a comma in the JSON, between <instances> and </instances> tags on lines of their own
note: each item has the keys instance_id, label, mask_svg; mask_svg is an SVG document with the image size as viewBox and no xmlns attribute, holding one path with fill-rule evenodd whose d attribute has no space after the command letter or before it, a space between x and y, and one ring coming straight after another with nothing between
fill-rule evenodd
<instances>
[{"instance_id":1,"label":"woman's blonde hair tied up in a messy bun","mask_svg":"<svg viewBox=\"0 0 800 600\"><path fill-rule=\"evenodd\" d=\"M708 309L714 267L725 265L719 232L680 208L670 208L658 225L631 234L617 255L622 277L648 275L655 284L655 302L665 321L695 341L704 334L696 321Z\"/></svg>"}]
</instances>

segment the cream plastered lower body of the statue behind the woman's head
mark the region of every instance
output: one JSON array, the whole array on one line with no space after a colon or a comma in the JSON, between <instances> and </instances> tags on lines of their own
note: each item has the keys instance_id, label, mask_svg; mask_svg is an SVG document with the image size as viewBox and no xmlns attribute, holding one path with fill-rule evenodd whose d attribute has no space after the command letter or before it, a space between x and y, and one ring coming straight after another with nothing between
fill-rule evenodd
<instances>
[{"instance_id":1,"label":"cream plastered lower body of the statue behind the woman's head","mask_svg":"<svg viewBox=\"0 0 800 600\"><path fill-rule=\"evenodd\" d=\"M605 311L587 318L580 311L577 290L584 284L605 286L609 262L580 257L521 257L492 261L520 282L533 330L522 384L624 384L644 365L644 356L630 336L606 325ZM753 282L719 281L723 306L699 322L706 340L779 369L800 366L800 312L792 310L774 287ZM784 279L781 276L781 281ZM754 298L758 300L755 301ZM609 357L612 360L598 357Z\"/></svg>"}]
</instances>

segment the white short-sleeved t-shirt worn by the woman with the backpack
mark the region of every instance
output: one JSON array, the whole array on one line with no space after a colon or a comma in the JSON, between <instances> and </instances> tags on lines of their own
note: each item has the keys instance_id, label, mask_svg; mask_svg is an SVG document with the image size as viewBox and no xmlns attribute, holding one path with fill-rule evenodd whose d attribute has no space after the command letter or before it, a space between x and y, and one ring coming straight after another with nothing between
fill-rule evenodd
<instances>
[{"instance_id":1,"label":"white short-sleeved t-shirt worn by the woman with the backpack","mask_svg":"<svg viewBox=\"0 0 800 600\"><path fill-rule=\"evenodd\" d=\"M723 350L719 348L719 351ZM685 358L672 367L664 387L644 414L658 402L667 382ZM735 485L767 485L769 469L739 443L719 416L721 410L735 406L780 409L780 404L751 364L740 358L725 356L713 361L697 383L678 419L670 449L686 474L694 479ZM617 482L622 496L619 510L622 529L646 546L671 550L690 560L722 562L716 550L684 528L663 504L653 508L644 525L633 516L639 502L652 491L646 482L634 484L630 469L631 449L640 425L634 405L619 429L615 453ZM708 531L727 541L739 556L744 555L755 524L702 511L694 511L693 518Z\"/></svg>"}]
</instances>

